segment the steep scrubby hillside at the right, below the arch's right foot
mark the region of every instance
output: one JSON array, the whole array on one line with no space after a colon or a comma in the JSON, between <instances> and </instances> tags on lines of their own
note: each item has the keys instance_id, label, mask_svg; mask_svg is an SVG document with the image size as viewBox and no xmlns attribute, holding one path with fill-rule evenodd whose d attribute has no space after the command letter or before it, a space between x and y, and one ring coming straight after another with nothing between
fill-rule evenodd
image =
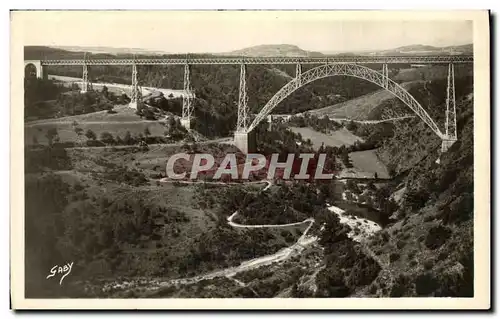
<instances>
[{"instance_id":1,"label":"steep scrubby hillside at the right, below the arch's right foot","mask_svg":"<svg viewBox=\"0 0 500 319\"><path fill-rule=\"evenodd\" d=\"M474 295L473 99L457 103L458 141L439 156L440 141L420 123L399 131L380 150L407 176L399 189L398 221L380 232L370 250L385 260L363 296ZM410 142L408 142L410 141Z\"/></svg>"}]
</instances>

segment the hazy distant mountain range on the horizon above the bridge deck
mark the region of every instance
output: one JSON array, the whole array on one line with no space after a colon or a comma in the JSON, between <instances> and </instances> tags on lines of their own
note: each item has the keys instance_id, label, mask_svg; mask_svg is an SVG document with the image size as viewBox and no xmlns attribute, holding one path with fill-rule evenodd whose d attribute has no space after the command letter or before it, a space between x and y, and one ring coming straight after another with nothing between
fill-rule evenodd
<instances>
[{"instance_id":1,"label":"hazy distant mountain range on the horizon above the bridge deck","mask_svg":"<svg viewBox=\"0 0 500 319\"><path fill-rule=\"evenodd\" d=\"M121 55L132 54L147 55L171 55L164 51L154 51L140 48L114 48L114 47L85 47L85 46L26 46L25 59L41 58L82 58L83 52L94 55ZM315 52L306 51L293 44L264 44L248 47L236 51L220 53L202 53L203 55L215 56L247 56L247 57L323 57L332 55L444 55L444 54L473 54L472 44L457 46L435 47L430 45L414 44L402 46L390 50L365 50L353 52ZM178 54L177 54L178 55Z\"/></svg>"}]
</instances>

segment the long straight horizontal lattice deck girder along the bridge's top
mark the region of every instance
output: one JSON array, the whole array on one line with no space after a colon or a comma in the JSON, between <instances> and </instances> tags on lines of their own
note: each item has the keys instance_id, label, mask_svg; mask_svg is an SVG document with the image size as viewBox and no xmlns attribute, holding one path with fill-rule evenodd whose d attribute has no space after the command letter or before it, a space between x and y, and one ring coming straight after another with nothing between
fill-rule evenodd
<instances>
[{"instance_id":1,"label":"long straight horizontal lattice deck girder along the bridge's top","mask_svg":"<svg viewBox=\"0 0 500 319\"><path fill-rule=\"evenodd\" d=\"M188 62L187 62L188 61ZM42 65L164 65L192 64L330 64L330 63L473 63L472 55L433 55L433 56L331 56L327 58L301 57L258 57L258 58L193 58L193 59L89 59L89 60L41 60Z\"/></svg>"}]
</instances>

